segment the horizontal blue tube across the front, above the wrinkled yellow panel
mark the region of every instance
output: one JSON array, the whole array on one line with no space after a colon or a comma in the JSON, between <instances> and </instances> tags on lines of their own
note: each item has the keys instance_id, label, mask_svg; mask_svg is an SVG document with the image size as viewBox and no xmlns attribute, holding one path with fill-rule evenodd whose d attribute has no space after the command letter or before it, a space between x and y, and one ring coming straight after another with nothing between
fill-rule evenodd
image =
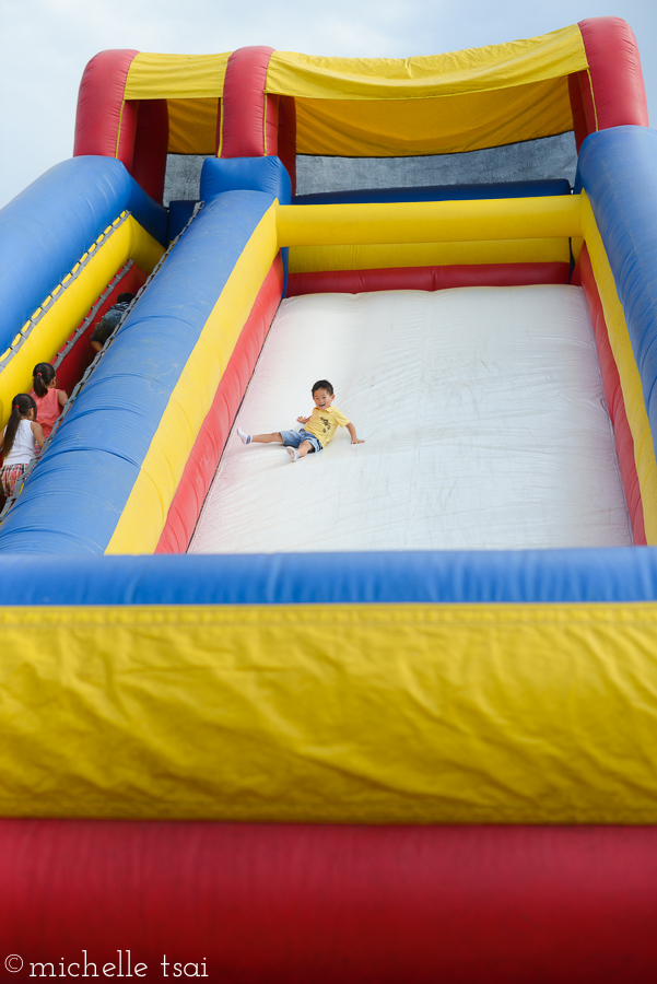
<instances>
[{"instance_id":1,"label":"horizontal blue tube across the front, above the wrinkled yellow panel","mask_svg":"<svg viewBox=\"0 0 657 984\"><path fill-rule=\"evenodd\" d=\"M316 576L318 557L322 577ZM539 605L657 600L657 550L0 557L0 605Z\"/></svg>"}]
</instances>

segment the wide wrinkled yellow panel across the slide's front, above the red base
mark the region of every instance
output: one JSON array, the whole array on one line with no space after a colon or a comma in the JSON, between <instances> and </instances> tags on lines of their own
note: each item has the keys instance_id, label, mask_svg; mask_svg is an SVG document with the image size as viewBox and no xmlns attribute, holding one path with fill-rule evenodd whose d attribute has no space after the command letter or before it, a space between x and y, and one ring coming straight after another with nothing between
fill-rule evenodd
<instances>
[{"instance_id":1,"label":"wide wrinkled yellow panel across the slide's front, above the red base","mask_svg":"<svg viewBox=\"0 0 657 984\"><path fill-rule=\"evenodd\" d=\"M24 606L0 625L5 817L657 823L652 604Z\"/></svg>"}]
</instances>

